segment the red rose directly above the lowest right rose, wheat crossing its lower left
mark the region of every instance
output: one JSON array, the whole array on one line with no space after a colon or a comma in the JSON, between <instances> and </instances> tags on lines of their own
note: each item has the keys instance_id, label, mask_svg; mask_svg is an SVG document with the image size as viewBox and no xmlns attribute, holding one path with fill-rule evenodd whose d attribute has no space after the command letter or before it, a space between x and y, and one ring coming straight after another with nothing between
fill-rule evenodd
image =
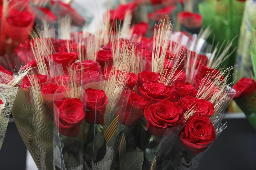
<instances>
[{"instance_id":1,"label":"red rose directly above the lowest right rose, wheat crossing its lower left","mask_svg":"<svg viewBox=\"0 0 256 170\"><path fill-rule=\"evenodd\" d=\"M192 96L186 96L181 98L179 102L182 105L184 112L193 109L194 114L207 117L210 117L214 113L213 104L204 99L197 99Z\"/></svg>"}]
</instances>

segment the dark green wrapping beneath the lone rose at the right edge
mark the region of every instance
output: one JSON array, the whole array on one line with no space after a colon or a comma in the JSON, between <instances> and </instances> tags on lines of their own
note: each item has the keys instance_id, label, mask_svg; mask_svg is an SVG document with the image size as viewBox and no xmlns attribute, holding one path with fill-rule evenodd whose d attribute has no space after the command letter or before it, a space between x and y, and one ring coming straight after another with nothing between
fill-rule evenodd
<instances>
[{"instance_id":1,"label":"dark green wrapping beneath the lone rose at the right edge","mask_svg":"<svg viewBox=\"0 0 256 170\"><path fill-rule=\"evenodd\" d=\"M234 99L256 130L256 90L250 95Z\"/></svg>"}]
</instances>

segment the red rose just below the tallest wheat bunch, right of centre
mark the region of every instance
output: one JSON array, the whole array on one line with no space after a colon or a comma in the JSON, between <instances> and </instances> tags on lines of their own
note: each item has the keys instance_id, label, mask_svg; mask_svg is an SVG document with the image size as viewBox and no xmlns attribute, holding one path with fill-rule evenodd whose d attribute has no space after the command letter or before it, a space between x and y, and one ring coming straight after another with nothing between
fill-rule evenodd
<instances>
[{"instance_id":1,"label":"red rose just below the tallest wheat bunch, right of centre","mask_svg":"<svg viewBox=\"0 0 256 170\"><path fill-rule=\"evenodd\" d=\"M142 71L138 73L138 86L142 86L145 82L157 83L159 80L159 74L153 71Z\"/></svg>"}]
</instances>

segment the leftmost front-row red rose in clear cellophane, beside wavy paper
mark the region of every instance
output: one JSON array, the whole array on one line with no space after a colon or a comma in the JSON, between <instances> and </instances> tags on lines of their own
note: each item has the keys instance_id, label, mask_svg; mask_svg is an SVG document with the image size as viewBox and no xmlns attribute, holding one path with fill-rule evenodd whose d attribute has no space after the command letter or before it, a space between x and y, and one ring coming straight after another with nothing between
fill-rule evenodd
<instances>
[{"instance_id":1,"label":"leftmost front-row red rose in clear cellophane, beside wavy paper","mask_svg":"<svg viewBox=\"0 0 256 170\"><path fill-rule=\"evenodd\" d=\"M72 98L55 100L54 104L57 107L55 123L59 127L59 133L65 136L76 137L85 117L83 103L80 99Z\"/></svg>"}]
</instances>

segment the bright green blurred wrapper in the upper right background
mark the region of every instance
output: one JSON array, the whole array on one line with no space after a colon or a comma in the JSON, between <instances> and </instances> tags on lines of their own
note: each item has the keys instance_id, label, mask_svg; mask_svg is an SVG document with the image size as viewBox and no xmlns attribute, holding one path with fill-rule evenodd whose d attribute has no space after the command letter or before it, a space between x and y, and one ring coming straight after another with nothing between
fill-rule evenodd
<instances>
[{"instance_id":1,"label":"bright green blurred wrapper in the upper right background","mask_svg":"<svg viewBox=\"0 0 256 170\"><path fill-rule=\"evenodd\" d=\"M208 42L214 44L223 41L231 41L239 35L244 10L243 1L237 0L208 0L199 4L199 13L203 17L203 27L210 25L212 33ZM213 24L214 23L214 24ZM238 38L233 40L231 51L237 47ZM230 51L230 52L231 52ZM234 52L224 65L233 66L236 53Z\"/></svg>"}]
</instances>

